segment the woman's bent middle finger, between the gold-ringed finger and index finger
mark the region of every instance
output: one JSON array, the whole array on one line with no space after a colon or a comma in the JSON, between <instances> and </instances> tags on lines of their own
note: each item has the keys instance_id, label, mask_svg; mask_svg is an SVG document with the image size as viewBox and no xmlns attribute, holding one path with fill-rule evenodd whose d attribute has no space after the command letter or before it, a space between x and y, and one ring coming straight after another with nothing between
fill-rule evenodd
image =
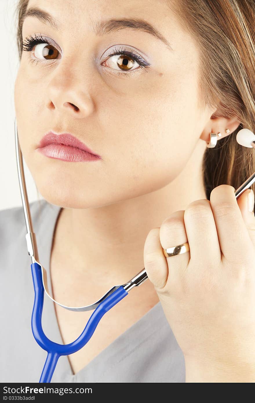
<instances>
[{"instance_id":1,"label":"woman's bent middle finger, between the gold-ringed finger and index finger","mask_svg":"<svg viewBox=\"0 0 255 403\"><path fill-rule=\"evenodd\" d=\"M184 214L191 259L199 259L204 267L221 261L220 244L211 204L207 199L191 202Z\"/></svg>"}]
</instances>

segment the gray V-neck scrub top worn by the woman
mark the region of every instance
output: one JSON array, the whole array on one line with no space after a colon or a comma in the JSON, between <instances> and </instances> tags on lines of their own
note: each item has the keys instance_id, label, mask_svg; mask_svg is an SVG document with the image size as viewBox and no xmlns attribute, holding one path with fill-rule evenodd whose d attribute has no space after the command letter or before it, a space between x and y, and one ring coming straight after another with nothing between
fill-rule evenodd
<instances>
[{"instance_id":1,"label":"gray V-neck scrub top worn by the woman","mask_svg":"<svg viewBox=\"0 0 255 403\"><path fill-rule=\"evenodd\" d=\"M50 253L60 207L42 199L30 203L30 209L39 262L52 295ZM34 289L25 235L23 208L1 210L0 382L39 382L47 355L31 330ZM47 337L62 344L54 302L46 294L42 325ZM68 357L61 356L51 382L185 382L185 361L158 302L77 374Z\"/></svg>"}]
</instances>

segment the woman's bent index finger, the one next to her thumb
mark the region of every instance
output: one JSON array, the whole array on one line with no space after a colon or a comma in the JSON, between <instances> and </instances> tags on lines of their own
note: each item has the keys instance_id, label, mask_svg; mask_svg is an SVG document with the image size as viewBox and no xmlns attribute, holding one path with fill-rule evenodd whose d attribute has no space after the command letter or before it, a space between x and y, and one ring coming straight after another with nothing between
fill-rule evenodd
<instances>
[{"instance_id":1,"label":"woman's bent index finger, the one next to her thumb","mask_svg":"<svg viewBox=\"0 0 255 403\"><path fill-rule=\"evenodd\" d=\"M252 242L236 201L234 187L215 187L211 191L210 202L224 257L233 264L249 260Z\"/></svg>"}]
</instances>

